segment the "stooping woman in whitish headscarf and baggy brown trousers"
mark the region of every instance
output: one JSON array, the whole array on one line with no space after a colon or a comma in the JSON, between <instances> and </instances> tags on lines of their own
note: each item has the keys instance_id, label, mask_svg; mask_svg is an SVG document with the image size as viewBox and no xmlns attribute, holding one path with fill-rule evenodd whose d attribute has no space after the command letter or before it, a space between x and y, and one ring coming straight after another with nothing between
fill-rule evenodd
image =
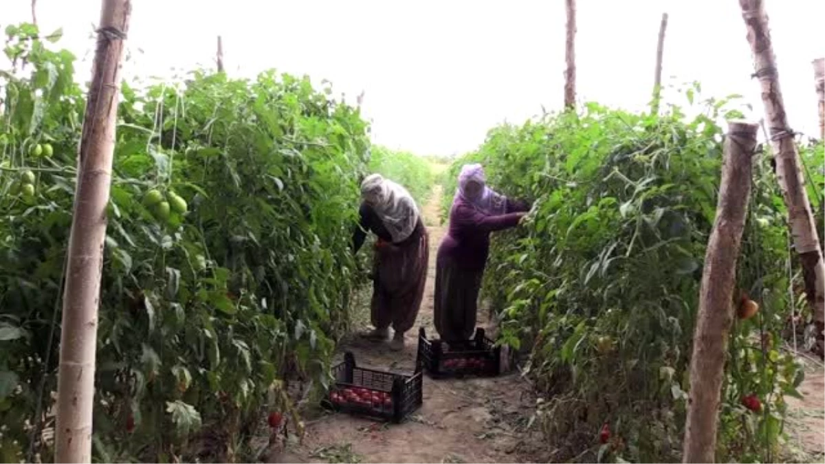
<instances>
[{"instance_id":1,"label":"stooping woman in whitish headscarf and baggy brown trousers","mask_svg":"<svg viewBox=\"0 0 825 464\"><path fill-rule=\"evenodd\" d=\"M375 329L366 336L401 350L413 328L427 282L429 236L413 196L398 183L372 174L361 183L361 220L353 237L357 253L371 231L378 236L373 263L370 315Z\"/></svg>"}]
</instances>

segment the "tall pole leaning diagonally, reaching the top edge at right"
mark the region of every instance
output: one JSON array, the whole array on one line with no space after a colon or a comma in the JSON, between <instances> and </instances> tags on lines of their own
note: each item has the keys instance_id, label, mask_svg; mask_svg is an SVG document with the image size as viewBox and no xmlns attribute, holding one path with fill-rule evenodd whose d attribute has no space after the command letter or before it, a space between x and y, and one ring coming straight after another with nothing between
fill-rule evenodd
<instances>
[{"instance_id":1,"label":"tall pole leaning diagonally, reaching the top edge at right","mask_svg":"<svg viewBox=\"0 0 825 464\"><path fill-rule=\"evenodd\" d=\"M747 41L751 45L753 64L761 86L765 118L771 133L771 143L788 220L794 237L794 249L799 253L805 282L805 294L813 307L813 324L817 337L814 349L825 356L825 263L819 245L819 235L805 190L799 150L794 131L788 124L785 102L776 69L776 57L771 44L771 31L762 0L739 0L742 19L747 26Z\"/></svg>"}]
</instances>

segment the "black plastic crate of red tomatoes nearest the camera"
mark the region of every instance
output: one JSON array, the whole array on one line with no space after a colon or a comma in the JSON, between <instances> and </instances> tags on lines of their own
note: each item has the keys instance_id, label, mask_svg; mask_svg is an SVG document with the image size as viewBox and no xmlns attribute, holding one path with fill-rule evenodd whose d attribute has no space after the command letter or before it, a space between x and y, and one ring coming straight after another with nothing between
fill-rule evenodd
<instances>
[{"instance_id":1,"label":"black plastic crate of red tomatoes nearest the camera","mask_svg":"<svg viewBox=\"0 0 825 464\"><path fill-rule=\"evenodd\" d=\"M422 405L421 365L412 376L356 366L356 357L344 353L344 361L332 367L335 385L323 406L348 414L389 420L398 424Z\"/></svg>"}]
</instances>

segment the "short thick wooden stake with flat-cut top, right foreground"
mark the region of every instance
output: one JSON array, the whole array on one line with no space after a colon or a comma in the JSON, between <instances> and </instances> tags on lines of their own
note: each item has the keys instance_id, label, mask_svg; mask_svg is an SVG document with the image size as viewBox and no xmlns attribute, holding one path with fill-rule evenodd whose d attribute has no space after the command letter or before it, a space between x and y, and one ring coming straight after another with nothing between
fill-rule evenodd
<instances>
[{"instance_id":1,"label":"short thick wooden stake with flat-cut top, right foreground","mask_svg":"<svg viewBox=\"0 0 825 464\"><path fill-rule=\"evenodd\" d=\"M699 315L691 355L684 464L713 464L728 333L733 321L736 261L751 195L753 149L759 125L732 121L724 146L716 220L705 253Z\"/></svg>"}]
</instances>

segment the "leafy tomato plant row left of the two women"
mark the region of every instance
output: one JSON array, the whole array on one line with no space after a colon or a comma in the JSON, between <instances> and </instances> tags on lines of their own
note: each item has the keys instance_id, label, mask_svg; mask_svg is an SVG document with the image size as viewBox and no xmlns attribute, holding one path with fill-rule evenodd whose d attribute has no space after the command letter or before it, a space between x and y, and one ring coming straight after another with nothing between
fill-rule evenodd
<instances>
[{"instance_id":1,"label":"leafy tomato plant row left of the two women","mask_svg":"<svg viewBox=\"0 0 825 464\"><path fill-rule=\"evenodd\" d=\"M0 445L48 456L84 95L74 57L9 26L0 73ZM360 111L307 78L124 83L97 340L95 450L243 452L271 386L328 385L365 277L350 249ZM274 395L289 412L285 395ZM37 416L37 413L40 416ZM46 434L48 435L48 433ZM127 439L128 438L128 439ZM211 443L209 440L207 442ZM0 459L2 460L2 459Z\"/></svg>"}]
</instances>

